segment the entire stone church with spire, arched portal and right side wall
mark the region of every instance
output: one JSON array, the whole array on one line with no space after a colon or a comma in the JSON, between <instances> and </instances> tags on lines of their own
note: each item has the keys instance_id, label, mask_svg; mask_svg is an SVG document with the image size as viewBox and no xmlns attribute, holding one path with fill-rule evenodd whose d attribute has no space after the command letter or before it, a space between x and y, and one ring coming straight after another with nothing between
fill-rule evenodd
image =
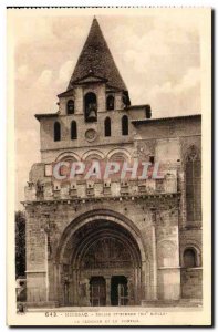
<instances>
[{"instance_id":1,"label":"entire stone church with spire, arched portal and right side wall","mask_svg":"<svg viewBox=\"0 0 218 332\"><path fill-rule=\"evenodd\" d=\"M29 305L201 299L201 116L132 105L96 19L59 111L37 114L25 201ZM162 178L59 180L58 162L162 165Z\"/></svg>"}]
</instances>

